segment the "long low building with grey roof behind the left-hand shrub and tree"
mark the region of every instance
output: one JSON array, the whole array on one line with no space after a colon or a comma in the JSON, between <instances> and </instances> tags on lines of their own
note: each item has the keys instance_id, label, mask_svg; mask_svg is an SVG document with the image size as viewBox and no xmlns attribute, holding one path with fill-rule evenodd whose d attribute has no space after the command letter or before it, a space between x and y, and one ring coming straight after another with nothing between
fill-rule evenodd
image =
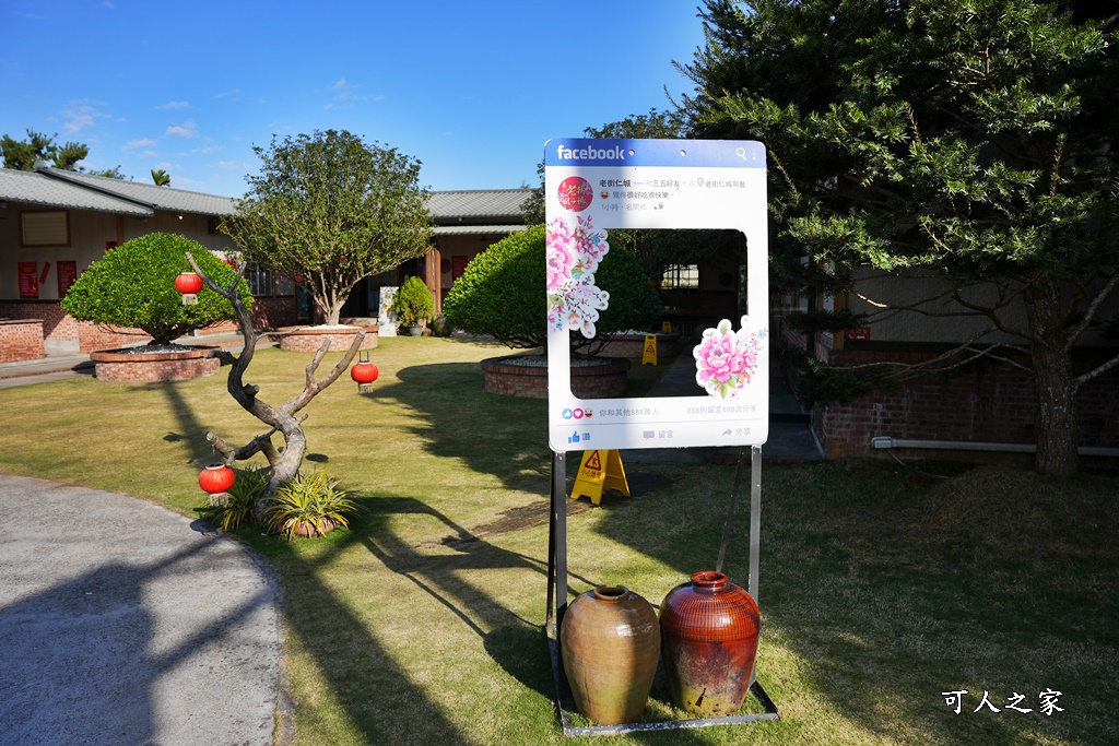
<instances>
[{"instance_id":1,"label":"long low building with grey roof behind the left-hand shrub and tree","mask_svg":"<svg viewBox=\"0 0 1119 746\"><path fill-rule=\"evenodd\" d=\"M426 257L361 281L344 314L379 317L382 287L398 286L407 275L423 277L440 308L471 258L526 228L521 205L530 193L432 192L429 209L435 227ZM75 322L58 305L77 276L109 248L154 232L181 234L218 253L234 251L217 225L236 211L236 201L54 168L0 169L0 320L41 319L48 349L106 347L104 334ZM290 280L267 272L251 272L248 278L257 306L271 309L270 325L309 320L308 309L297 310Z\"/></svg>"}]
</instances>

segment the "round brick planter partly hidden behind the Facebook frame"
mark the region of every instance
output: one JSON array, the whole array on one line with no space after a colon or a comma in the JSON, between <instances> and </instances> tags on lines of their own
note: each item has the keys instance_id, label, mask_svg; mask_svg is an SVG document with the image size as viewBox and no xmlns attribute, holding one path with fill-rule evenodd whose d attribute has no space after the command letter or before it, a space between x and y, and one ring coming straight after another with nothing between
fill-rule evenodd
<instances>
[{"instance_id":1,"label":"round brick planter partly hidden behind the Facebook frame","mask_svg":"<svg viewBox=\"0 0 1119 746\"><path fill-rule=\"evenodd\" d=\"M510 357L488 358L481 361L485 388L490 394L525 399L548 398L548 369L545 366L511 365ZM630 361L619 358L599 358L602 365L573 366L572 393L581 399L609 399L626 396L626 371Z\"/></svg>"}]
</instances>

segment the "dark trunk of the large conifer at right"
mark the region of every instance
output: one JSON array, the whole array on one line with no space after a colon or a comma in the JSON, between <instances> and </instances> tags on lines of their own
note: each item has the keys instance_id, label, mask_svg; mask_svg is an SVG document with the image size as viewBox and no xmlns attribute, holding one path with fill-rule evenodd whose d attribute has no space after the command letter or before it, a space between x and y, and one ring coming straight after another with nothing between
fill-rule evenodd
<instances>
[{"instance_id":1,"label":"dark trunk of the large conifer at right","mask_svg":"<svg viewBox=\"0 0 1119 746\"><path fill-rule=\"evenodd\" d=\"M1079 466L1080 424L1072 348L1061 318L1056 283L1043 280L1024 293L1029 324L1029 347L1037 389L1037 454L1040 474L1071 476Z\"/></svg>"}]
</instances>

